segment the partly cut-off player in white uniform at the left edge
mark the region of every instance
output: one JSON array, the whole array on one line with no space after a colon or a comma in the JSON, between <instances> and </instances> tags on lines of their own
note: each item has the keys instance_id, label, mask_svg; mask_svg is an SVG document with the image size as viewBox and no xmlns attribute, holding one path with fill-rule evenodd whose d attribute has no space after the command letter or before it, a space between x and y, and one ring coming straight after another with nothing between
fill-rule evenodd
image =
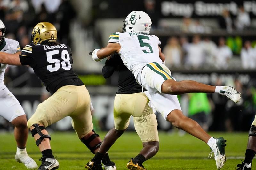
<instances>
[{"instance_id":1,"label":"partly cut-off player in white uniform at the left edge","mask_svg":"<svg viewBox=\"0 0 256 170\"><path fill-rule=\"evenodd\" d=\"M0 20L0 51L14 54L20 51L19 42L5 38L5 26ZM26 151L28 139L27 118L19 101L4 85L4 73L6 64L0 63L0 116L11 122L14 128L14 137L17 143L15 159L17 162L25 164L28 169L37 168L36 162L30 158Z\"/></svg>"}]
</instances>

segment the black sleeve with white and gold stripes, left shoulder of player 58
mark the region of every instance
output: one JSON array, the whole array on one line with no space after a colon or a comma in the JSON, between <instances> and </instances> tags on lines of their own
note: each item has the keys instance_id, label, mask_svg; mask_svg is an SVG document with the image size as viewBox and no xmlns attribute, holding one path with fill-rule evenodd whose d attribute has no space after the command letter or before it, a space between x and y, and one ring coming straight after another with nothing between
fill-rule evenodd
<instances>
[{"instance_id":1,"label":"black sleeve with white and gold stripes, left shoulder of player 58","mask_svg":"<svg viewBox=\"0 0 256 170\"><path fill-rule=\"evenodd\" d=\"M26 45L20 53L20 63L21 65L29 65L30 67L36 66L36 61L32 57L32 46Z\"/></svg>"}]
</instances>

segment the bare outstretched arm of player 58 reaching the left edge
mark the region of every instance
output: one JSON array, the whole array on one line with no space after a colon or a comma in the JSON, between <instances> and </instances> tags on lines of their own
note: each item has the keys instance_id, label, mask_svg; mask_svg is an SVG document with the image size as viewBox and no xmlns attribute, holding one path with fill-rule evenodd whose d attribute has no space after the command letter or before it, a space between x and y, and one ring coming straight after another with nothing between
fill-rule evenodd
<instances>
[{"instance_id":1,"label":"bare outstretched arm of player 58 reaching the left edge","mask_svg":"<svg viewBox=\"0 0 256 170\"><path fill-rule=\"evenodd\" d=\"M0 63L9 65L21 65L20 51L15 54L0 52Z\"/></svg>"}]
</instances>

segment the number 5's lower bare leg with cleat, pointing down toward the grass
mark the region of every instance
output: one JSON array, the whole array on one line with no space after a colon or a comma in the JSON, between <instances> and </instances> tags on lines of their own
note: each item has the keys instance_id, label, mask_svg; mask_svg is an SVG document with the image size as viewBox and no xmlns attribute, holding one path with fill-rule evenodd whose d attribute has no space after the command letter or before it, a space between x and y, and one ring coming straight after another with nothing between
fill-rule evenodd
<instances>
[{"instance_id":1,"label":"number 5's lower bare leg with cleat, pointing down toward the grass","mask_svg":"<svg viewBox=\"0 0 256 170\"><path fill-rule=\"evenodd\" d=\"M208 133L204 131L203 128L200 127L200 125L196 121L183 115L181 110L173 110L171 113L169 113L169 115L167 115L166 120L172 123L174 127L182 129L208 144L212 149L212 152L214 153L214 159L216 161L217 168L221 169L224 166L226 162L226 140L224 140L222 137L211 137Z\"/></svg>"}]
</instances>

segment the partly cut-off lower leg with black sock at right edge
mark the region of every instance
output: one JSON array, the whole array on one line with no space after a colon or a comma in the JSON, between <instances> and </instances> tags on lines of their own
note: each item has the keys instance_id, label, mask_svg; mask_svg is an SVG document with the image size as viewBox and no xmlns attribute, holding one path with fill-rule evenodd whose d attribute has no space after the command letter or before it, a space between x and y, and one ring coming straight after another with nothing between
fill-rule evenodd
<instances>
[{"instance_id":1,"label":"partly cut-off lower leg with black sock at right edge","mask_svg":"<svg viewBox=\"0 0 256 170\"><path fill-rule=\"evenodd\" d=\"M252 126L249 130L249 138L247 143L247 148L245 152L245 159L242 162L242 164L238 164L237 170L251 170L252 169L252 159L255 156L256 153L256 126L253 124L256 124L256 121L254 120L252 122Z\"/></svg>"}]
</instances>

